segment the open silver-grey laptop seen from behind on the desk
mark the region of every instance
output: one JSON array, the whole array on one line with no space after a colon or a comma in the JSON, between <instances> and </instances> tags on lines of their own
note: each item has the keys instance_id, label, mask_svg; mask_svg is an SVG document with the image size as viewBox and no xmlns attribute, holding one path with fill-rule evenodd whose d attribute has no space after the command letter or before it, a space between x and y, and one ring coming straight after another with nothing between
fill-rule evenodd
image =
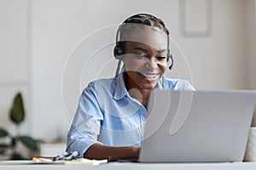
<instances>
[{"instance_id":1,"label":"open silver-grey laptop seen from behind on the desk","mask_svg":"<svg viewBox=\"0 0 256 170\"><path fill-rule=\"evenodd\" d=\"M256 92L155 90L138 161L242 161Z\"/></svg>"}]
</instances>

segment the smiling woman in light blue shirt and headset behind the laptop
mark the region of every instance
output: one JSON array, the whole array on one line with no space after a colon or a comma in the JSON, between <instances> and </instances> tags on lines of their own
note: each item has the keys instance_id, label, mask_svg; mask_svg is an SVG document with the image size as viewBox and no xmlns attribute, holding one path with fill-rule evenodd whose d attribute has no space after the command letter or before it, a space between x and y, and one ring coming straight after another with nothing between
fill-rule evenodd
<instances>
[{"instance_id":1,"label":"smiling woman in light blue shirt and headset behind the laptop","mask_svg":"<svg viewBox=\"0 0 256 170\"><path fill-rule=\"evenodd\" d=\"M151 14L133 15L119 26L113 54L116 77L84 88L68 133L67 151L90 159L137 158L152 90L194 90L188 81L164 77L173 62L169 31Z\"/></svg>"}]
</instances>

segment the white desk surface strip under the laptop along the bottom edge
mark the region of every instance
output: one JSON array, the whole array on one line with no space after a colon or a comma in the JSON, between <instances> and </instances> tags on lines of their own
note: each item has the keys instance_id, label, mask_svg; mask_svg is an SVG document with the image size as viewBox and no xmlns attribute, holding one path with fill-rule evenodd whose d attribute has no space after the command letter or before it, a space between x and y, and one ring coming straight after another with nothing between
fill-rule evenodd
<instances>
[{"instance_id":1,"label":"white desk surface strip under the laptop along the bottom edge","mask_svg":"<svg viewBox=\"0 0 256 170\"><path fill-rule=\"evenodd\" d=\"M256 162L234 162L234 163L131 163L131 162L111 162L106 164L101 164L97 166L92 165L0 165L0 169L4 170L131 170L131 169L140 169L140 170L250 170L256 169Z\"/></svg>"}]
</instances>

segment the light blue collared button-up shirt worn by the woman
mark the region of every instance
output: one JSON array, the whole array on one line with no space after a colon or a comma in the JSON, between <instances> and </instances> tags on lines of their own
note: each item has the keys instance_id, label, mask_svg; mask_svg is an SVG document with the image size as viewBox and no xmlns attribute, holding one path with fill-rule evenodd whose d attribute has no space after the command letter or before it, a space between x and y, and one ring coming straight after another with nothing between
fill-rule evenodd
<instances>
[{"instance_id":1,"label":"light blue collared button-up shirt worn by the woman","mask_svg":"<svg viewBox=\"0 0 256 170\"><path fill-rule=\"evenodd\" d=\"M188 81L166 78L155 88L195 90ZM77 150L83 156L96 143L140 147L146 117L146 108L125 88L124 74L90 82L80 96L67 136L67 151Z\"/></svg>"}]
</instances>

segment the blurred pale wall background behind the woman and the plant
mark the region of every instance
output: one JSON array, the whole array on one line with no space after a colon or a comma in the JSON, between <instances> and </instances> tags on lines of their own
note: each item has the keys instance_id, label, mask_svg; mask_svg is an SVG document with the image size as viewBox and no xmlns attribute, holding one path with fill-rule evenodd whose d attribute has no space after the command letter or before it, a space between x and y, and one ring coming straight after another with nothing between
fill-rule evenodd
<instances>
[{"instance_id":1,"label":"blurred pale wall background behind the woman and the plant","mask_svg":"<svg viewBox=\"0 0 256 170\"><path fill-rule=\"evenodd\" d=\"M114 76L118 24L137 13L171 31L166 77L256 90L255 8L255 0L0 0L0 126L14 130L9 109L20 92L20 133L65 142L82 89Z\"/></svg>"}]
</instances>

